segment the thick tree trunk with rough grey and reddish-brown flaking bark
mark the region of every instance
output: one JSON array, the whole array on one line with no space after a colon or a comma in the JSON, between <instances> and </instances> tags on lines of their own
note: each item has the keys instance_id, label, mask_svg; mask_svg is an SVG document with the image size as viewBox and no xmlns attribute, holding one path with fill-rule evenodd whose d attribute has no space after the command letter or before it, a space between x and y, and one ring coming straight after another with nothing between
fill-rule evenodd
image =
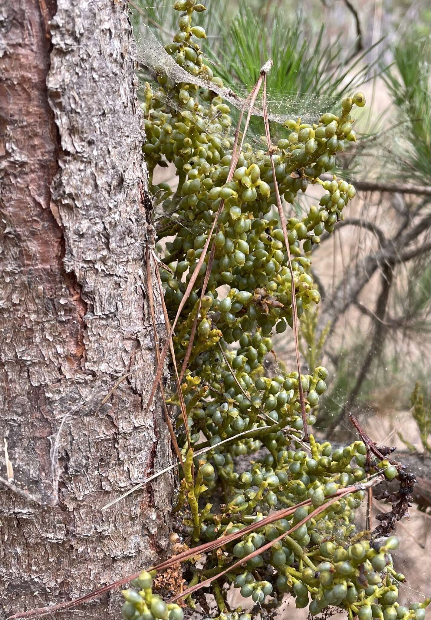
<instances>
[{"instance_id":1,"label":"thick tree trunk with rough grey and reddish-brown flaking bark","mask_svg":"<svg viewBox=\"0 0 431 620\"><path fill-rule=\"evenodd\" d=\"M123 0L0 7L0 616L87 593L168 544L153 228ZM158 295L156 295L156 300ZM156 321L162 327L160 306ZM130 373L106 404L123 375ZM7 484L7 441L14 480ZM61 618L117 618L115 595Z\"/></svg>"}]
</instances>

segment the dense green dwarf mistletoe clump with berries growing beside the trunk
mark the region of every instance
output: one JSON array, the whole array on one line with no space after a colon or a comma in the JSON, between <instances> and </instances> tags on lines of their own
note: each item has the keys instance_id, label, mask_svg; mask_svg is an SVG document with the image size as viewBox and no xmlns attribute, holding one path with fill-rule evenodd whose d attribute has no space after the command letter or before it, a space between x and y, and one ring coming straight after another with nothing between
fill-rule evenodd
<instances>
[{"instance_id":1,"label":"dense green dwarf mistletoe clump with berries growing beside the trunk","mask_svg":"<svg viewBox=\"0 0 431 620\"><path fill-rule=\"evenodd\" d=\"M276 607L288 593L313 615L337 606L350 619L424 620L427 601L410 608L397 602L404 576L391 552L398 540L378 536L389 527L376 536L355 526L367 476L368 484L376 472L404 484L402 468L377 448L370 452L369 443L333 449L308 435L326 389L325 368L298 374L279 362L275 376L265 370L265 357L275 356L273 330L290 326L297 345L296 317L319 303L311 250L355 196L345 180L319 177L334 168L346 141L356 140L351 114L365 98L347 97L338 115L324 113L315 124L287 120L276 146L269 133L263 148L245 143L218 94L223 82L197 43L205 30L192 17L205 7L177 0L174 9L179 30L166 51L193 79L179 83L161 74L158 87L146 84L143 151L151 192L169 211L158 223L158 248L181 368L180 389L170 399L183 412L174 511L192 552L205 553L199 569L183 565L189 587L167 604L152 593L154 573L141 573L124 591L123 616L181 620L174 600L188 597L193 606L192 591L203 587L215 596L220 618L249 619L226 603L233 587L251 598L250 606ZM174 193L153 184L154 170L166 162L176 167ZM310 184L326 193L284 228L278 194L293 205Z\"/></svg>"}]
</instances>

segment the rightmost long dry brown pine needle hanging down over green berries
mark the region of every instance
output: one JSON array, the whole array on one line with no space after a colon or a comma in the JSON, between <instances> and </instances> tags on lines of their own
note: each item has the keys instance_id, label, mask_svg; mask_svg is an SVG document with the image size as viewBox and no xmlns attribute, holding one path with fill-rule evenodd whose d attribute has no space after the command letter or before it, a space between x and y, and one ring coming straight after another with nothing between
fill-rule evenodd
<instances>
[{"instance_id":1,"label":"rightmost long dry brown pine needle hanging down over green berries","mask_svg":"<svg viewBox=\"0 0 431 620\"><path fill-rule=\"evenodd\" d=\"M291 296L292 317L293 317L293 339L295 340L296 365L298 366L298 389L300 391L301 417L302 417L303 427L304 427L303 440L309 441L308 427L307 427L307 414L305 411L304 391L303 391L302 382L301 382L300 347L299 347L299 340L298 340L298 311L296 309L295 281L293 279L293 267L292 267L292 261L290 257L290 247L289 247L289 240L287 236L286 219L285 219L285 215L283 211L282 199L280 198L280 191L278 190L277 179L275 178L275 164L274 164L274 159L272 156L272 144L271 144L271 136L270 136L270 131L269 131L266 74L264 75L262 112L264 115L265 136L266 136L267 144L268 144L268 152L269 152L269 156L271 159L272 175L273 175L274 187L275 187L275 196L277 197L278 215L280 216L280 223L282 224L283 236L284 236L286 252L287 252L287 260L288 260L289 271L290 271L290 279L291 279L291 295L290 296Z\"/></svg>"}]
</instances>

